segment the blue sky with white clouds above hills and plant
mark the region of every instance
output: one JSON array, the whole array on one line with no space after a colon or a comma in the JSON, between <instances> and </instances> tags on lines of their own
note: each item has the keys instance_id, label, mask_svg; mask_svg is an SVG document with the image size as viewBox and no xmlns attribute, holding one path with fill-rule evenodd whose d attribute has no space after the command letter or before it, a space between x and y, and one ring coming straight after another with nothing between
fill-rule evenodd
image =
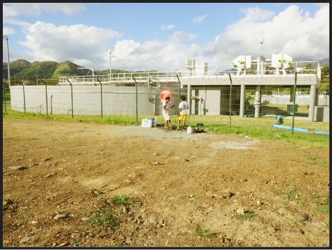
<instances>
[{"instance_id":1,"label":"blue sky with white clouds above hills and plant","mask_svg":"<svg viewBox=\"0 0 332 250\"><path fill-rule=\"evenodd\" d=\"M261 51L328 58L329 14L326 3L4 3L3 35L11 62L170 72L187 59L223 65Z\"/></svg>"}]
</instances>

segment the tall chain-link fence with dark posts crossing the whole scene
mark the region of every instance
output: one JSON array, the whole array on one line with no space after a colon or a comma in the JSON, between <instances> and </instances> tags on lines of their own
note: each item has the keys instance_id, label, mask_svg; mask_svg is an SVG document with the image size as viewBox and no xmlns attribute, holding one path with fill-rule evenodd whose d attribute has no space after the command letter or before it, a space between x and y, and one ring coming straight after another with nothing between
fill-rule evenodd
<instances>
[{"instance_id":1,"label":"tall chain-link fence with dark posts crossing the whole scene","mask_svg":"<svg viewBox=\"0 0 332 250\"><path fill-rule=\"evenodd\" d=\"M196 86L188 89L178 87L131 87L47 85L18 85L3 88L3 111L42 113L47 115L121 116L124 120L159 117L162 124L163 92L170 93L171 119L177 120L179 96L186 96L189 103L187 124L196 126L215 125L225 127L270 127L280 115L278 124L308 131L329 131L329 96L316 94L314 120L309 119L310 89L290 87L259 87L261 100L259 115L255 107L256 86L245 88L245 99L241 98L240 86ZM174 86L174 85L173 85ZM242 111L242 114L241 114ZM256 115L255 115L256 114ZM173 122L174 123L174 122Z\"/></svg>"}]
</instances>

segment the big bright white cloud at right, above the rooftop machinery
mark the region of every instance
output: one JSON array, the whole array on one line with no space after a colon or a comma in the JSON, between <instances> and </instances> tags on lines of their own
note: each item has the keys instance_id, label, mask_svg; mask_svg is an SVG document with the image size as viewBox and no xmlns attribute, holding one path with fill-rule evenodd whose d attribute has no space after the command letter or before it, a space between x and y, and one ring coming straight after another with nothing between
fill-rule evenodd
<instances>
[{"instance_id":1,"label":"big bright white cloud at right, above the rooftop machinery","mask_svg":"<svg viewBox=\"0 0 332 250\"><path fill-rule=\"evenodd\" d=\"M215 37L215 41L204 46L203 55L208 58L208 63L213 64L230 63L241 55L257 58L261 52L259 38L263 37L262 51L266 58L280 53L292 58L327 58L329 6L321 6L313 18L309 13L302 12L296 5L277 15L259 8L248 9L244 11L244 18L227 26L227 30Z\"/></svg>"}]
</instances>

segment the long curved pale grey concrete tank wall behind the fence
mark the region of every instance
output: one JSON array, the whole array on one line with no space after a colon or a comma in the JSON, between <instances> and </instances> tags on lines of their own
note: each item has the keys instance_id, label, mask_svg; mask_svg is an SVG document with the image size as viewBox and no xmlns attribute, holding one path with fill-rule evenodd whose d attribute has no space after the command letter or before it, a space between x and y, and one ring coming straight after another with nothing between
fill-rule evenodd
<instances>
[{"instance_id":1,"label":"long curved pale grey concrete tank wall behind the fence","mask_svg":"<svg viewBox=\"0 0 332 250\"><path fill-rule=\"evenodd\" d=\"M160 88L161 89L161 88ZM138 87L138 115L160 115L160 89ZM178 88L172 90L171 114L178 113ZM47 93L46 93L47 91ZM101 102L102 92L102 102ZM74 115L135 115L136 114L136 87L117 86L73 86L73 113ZM182 93L186 95L186 93ZM50 96L52 95L52 97ZM46 97L47 96L47 97ZM149 101L150 97L156 97L155 104ZM11 108L17 111L33 113L71 114L71 86L11 86ZM47 101L46 101L47 99ZM102 104L102 106L101 106Z\"/></svg>"}]
</instances>

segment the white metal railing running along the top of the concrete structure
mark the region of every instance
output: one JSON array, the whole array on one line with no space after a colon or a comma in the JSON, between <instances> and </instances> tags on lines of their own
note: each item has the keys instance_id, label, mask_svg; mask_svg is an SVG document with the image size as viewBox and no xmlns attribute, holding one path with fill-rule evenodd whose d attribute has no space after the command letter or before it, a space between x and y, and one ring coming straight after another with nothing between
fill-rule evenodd
<instances>
[{"instance_id":1,"label":"white metal railing running along the top of the concrete structure","mask_svg":"<svg viewBox=\"0 0 332 250\"><path fill-rule=\"evenodd\" d=\"M317 64L315 68L305 68L304 65ZM302 66L302 67L300 67ZM191 68L190 68L191 67ZM206 65L205 68L198 68L196 65L183 66L180 71L171 72L128 72L128 73L113 73L112 77L109 75L82 75L82 76L62 76L59 77L59 85L67 85L67 78L73 85L97 85L98 80L102 83L120 83L134 84L133 77L137 82L147 82L149 80L158 79L160 82L177 81L179 77L188 76L204 76L204 77L228 77L228 75L295 75L297 74L314 74L321 77L321 68L319 61L299 61L299 62L263 62L263 63L232 63L221 65Z\"/></svg>"}]
</instances>

